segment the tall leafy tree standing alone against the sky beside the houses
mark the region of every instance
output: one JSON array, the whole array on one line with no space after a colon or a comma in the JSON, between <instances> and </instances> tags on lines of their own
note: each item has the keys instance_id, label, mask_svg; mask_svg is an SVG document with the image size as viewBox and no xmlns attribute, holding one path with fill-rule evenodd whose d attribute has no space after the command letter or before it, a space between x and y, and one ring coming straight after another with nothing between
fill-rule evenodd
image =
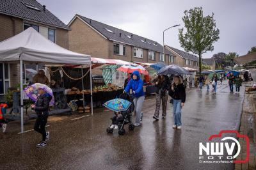
<instances>
[{"instance_id":1,"label":"tall leafy tree standing alone against the sky beside the houses","mask_svg":"<svg viewBox=\"0 0 256 170\"><path fill-rule=\"evenodd\" d=\"M186 10L184 12L182 20L184 22L186 33L184 28L179 29L179 41L180 46L187 52L193 52L199 57L199 74L202 71L202 54L214 49L212 43L220 39L220 30L216 28L215 20L212 15L204 17L202 7L196 7Z\"/></svg>"}]
</instances>

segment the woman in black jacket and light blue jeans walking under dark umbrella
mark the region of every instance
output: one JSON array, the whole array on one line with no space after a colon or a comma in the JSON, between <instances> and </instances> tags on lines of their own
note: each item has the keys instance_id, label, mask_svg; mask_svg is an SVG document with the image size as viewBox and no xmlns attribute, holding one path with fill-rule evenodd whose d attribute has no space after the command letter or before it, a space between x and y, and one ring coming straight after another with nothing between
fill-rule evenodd
<instances>
[{"instance_id":1,"label":"woman in black jacket and light blue jeans walking under dark umbrella","mask_svg":"<svg viewBox=\"0 0 256 170\"><path fill-rule=\"evenodd\" d=\"M168 91L170 97L173 100L173 116L174 116L174 125L173 128L181 128L181 108L184 106L186 101L186 90L182 81L180 80L179 75L175 75L173 79L173 84Z\"/></svg>"}]
</instances>

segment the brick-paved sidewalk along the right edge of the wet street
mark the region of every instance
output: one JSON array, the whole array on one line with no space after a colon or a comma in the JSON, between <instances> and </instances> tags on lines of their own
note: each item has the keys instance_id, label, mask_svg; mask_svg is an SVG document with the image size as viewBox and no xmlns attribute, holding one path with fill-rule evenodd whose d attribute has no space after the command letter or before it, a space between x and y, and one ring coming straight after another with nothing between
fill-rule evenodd
<instances>
[{"instance_id":1,"label":"brick-paved sidewalk along the right edge of the wet street","mask_svg":"<svg viewBox=\"0 0 256 170\"><path fill-rule=\"evenodd\" d=\"M244 94L243 113L239 134L248 135L250 139L250 160L246 164L236 164L235 169L256 169L256 92ZM246 158L246 142L239 139L242 156L237 159Z\"/></svg>"}]
</instances>

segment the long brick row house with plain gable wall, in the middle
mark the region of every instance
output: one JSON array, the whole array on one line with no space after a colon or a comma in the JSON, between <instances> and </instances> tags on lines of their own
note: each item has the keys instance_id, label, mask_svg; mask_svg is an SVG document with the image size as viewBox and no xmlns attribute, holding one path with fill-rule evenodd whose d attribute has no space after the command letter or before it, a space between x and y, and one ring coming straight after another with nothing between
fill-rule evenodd
<instances>
[{"instance_id":1,"label":"long brick row house with plain gable wall, in the middle","mask_svg":"<svg viewBox=\"0 0 256 170\"><path fill-rule=\"evenodd\" d=\"M129 33L96 20L75 15L69 22L69 49L95 58L122 59L129 62L157 63L166 65L177 60L170 50L154 40ZM179 56L177 56L179 57Z\"/></svg>"}]
</instances>

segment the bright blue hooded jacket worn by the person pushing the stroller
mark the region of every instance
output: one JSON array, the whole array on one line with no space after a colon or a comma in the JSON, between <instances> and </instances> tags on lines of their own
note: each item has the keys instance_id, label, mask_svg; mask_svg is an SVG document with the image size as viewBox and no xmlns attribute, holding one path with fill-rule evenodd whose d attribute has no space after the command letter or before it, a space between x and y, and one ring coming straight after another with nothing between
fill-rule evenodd
<instances>
[{"instance_id":1,"label":"bright blue hooded jacket worn by the person pushing the stroller","mask_svg":"<svg viewBox=\"0 0 256 170\"><path fill-rule=\"evenodd\" d=\"M133 75L137 75L137 79L134 80L132 79ZM132 89L132 91L135 91L135 95L132 93L132 95L134 95L134 97L142 97L144 96L144 91L143 91L143 81L140 79L140 73L138 71L134 71L131 75L131 80L128 82L126 88L124 89L124 91L126 93L129 93L130 89Z\"/></svg>"}]
</instances>

